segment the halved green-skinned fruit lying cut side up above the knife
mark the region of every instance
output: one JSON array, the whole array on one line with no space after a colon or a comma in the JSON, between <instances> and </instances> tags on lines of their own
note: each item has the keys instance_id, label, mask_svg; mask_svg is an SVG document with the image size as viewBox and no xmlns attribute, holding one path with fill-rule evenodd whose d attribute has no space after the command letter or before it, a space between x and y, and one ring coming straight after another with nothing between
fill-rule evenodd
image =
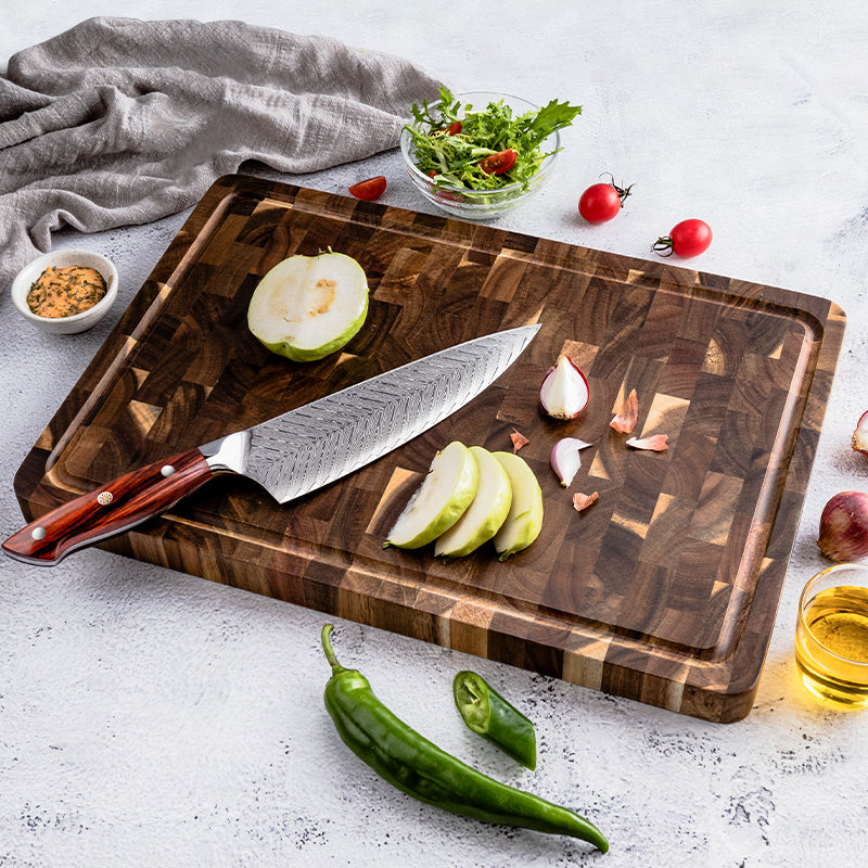
<instances>
[{"instance_id":1,"label":"halved green-skinned fruit lying cut side up above the knife","mask_svg":"<svg viewBox=\"0 0 868 868\"><path fill-rule=\"evenodd\" d=\"M343 253L290 256L259 281L247 328L272 353L314 361L348 343L368 316L365 269Z\"/></svg>"}]
</instances>

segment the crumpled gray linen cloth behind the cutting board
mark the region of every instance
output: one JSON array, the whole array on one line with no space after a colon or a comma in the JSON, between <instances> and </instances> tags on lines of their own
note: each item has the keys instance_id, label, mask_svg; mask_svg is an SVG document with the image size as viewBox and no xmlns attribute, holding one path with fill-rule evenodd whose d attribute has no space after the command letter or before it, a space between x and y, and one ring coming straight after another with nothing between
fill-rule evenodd
<instances>
[{"instance_id":1,"label":"crumpled gray linen cloth behind the cutting board","mask_svg":"<svg viewBox=\"0 0 868 868\"><path fill-rule=\"evenodd\" d=\"M248 159L309 173L394 148L437 88L405 60L323 37L85 21L0 77L0 291L64 225L155 220Z\"/></svg>"}]
</instances>

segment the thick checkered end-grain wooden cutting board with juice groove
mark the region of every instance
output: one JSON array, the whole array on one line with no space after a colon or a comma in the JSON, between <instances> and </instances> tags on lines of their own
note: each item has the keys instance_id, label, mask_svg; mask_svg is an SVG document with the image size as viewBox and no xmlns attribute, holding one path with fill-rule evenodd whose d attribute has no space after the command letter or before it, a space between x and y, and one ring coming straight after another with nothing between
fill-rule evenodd
<instances>
[{"instance_id":1,"label":"thick checkered end-grain wooden cutting board with juice groove","mask_svg":"<svg viewBox=\"0 0 868 868\"><path fill-rule=\"evenodd\" d=\"M354 340L321 361L246 329L257 281L291 254L355 257L371 290ZM749 713L844 330L781 289L244 176L218 180L15 477L28 520L120 473L406 361L540 322L463 410L352 476L278 506L219 477L105 548L710 720ZM558 422L539 384L567 352L590 403ZM635 388L636 451L609 426ZM542 487L539 539L500 563L383 549L452 439L521 450ZM569 490L562 436L591 441ZM575 492L599 492L578 513ZM73 556L75 557L75 556Z\"/></svg>"}]
</instances>

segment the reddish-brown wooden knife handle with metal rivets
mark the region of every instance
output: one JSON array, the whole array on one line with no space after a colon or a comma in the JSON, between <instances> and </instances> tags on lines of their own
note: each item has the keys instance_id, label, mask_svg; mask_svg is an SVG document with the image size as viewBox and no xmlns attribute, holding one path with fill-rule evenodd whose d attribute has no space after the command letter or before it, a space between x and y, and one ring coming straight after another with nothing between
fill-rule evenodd
<instances>
[{"instance_id":1,"label":"reddish-brown wooden knife handle with metal rivets","mask_svg":"<svg viewBox=\"0 0 868 868\"><path fill-rule=\"evenodd\" d=\"M139 468L41 515L2 544L11 558L52 566L69 552L159 515L212 477L200 449Z\"/></svg>"}]
</instances>

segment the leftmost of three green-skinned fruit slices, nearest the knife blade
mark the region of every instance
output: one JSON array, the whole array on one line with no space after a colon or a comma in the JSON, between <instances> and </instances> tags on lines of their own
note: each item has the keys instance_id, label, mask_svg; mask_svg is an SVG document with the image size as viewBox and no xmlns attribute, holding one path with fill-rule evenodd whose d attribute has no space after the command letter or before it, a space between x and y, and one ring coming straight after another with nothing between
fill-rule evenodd
<instances>
[{"instance_id":1,"label":"leftmost of three green-skinned fruit slices, nearest the knife blade","mask_svg":"<svg viewBox=\"0 0 868 868\"><path fill-rule=\"evenodd\" d=\"M434 456L431 470L398 515L385 546L418 549L448 531L476 494L480 471L473 452L457 441Z\"/></svg>"}]
</instances>

